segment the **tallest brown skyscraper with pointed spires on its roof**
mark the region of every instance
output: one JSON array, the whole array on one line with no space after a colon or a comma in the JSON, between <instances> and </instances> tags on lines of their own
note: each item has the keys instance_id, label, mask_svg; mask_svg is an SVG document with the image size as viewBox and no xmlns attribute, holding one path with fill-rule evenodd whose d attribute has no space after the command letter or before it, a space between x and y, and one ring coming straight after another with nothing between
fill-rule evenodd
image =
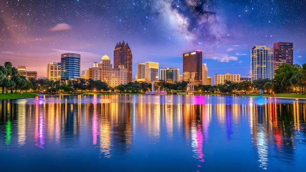
<instances>
[{"instance_id":1,"label":"tallest brown skyscraper with pointed spires on its roof","mask_svg":"<svg viewBox=\"0 0 306 172\"><path fill-rule=\"evenodd\" d=\"M124 41L116 44L114 49L114 69L118 69L119 65L123 65L127 69L127 82L132 81L132 53L129 44Z\"/></svg>"}]
</instances>

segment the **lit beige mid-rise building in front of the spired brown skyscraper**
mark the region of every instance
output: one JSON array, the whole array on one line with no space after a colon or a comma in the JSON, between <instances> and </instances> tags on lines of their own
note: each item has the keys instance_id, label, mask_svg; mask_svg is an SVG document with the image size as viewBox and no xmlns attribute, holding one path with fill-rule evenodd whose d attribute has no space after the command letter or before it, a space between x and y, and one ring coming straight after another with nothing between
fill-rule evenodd
<instances>
[{"instance_id":1,"label":"lit beige mid-rise building in front of the spired brown skyscraper","mask_svg":"<svg viewBox=\"0 0 306 172\"><path fill-rule=\"evenodd\" d=\"M109 86L115 87L120 84L126 85L127 82L127 69L123 65L120 65L119 68L114 68L111 71L111 81Z\"/></svg>"}]
</instances>

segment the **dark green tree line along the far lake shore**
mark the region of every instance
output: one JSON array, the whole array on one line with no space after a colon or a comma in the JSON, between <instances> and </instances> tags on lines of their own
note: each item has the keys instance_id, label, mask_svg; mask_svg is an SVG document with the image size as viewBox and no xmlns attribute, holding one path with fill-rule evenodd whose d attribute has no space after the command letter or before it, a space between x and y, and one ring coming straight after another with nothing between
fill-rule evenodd
<instances>
[{"instance_id":1,"label":"dark green tree line along the far lake shore","mask_svg":"<svg viewBox=\"0 0 306 172\"><path fill-rule=\"evenodd\" d=\"M180 81L168 83L159 80L154 83L155 90L164 90L167 93L184 92L188 82ZM226 81L219 85L198 85L195 86L195 91L200 94L251 94L262 93L293 93L299 92L305 94L306 86L306 64L302 66L298 64L281 65L274 74L272 80L264 78L257 79L253 82L242 81L232 82ZM144 93L151 91L152 84L147 82L129 82L125 85L109 87L109 85L100 80L92 79L63 79L61 81L53 81L44 78L29 78L25 79L18 74L15 67L12 67L11 62L5 62L0 66L0 87L2 94L17 93L23 91L44 92L49 94L56 93L82 93L83 91L90 92L119 92L119 93Z\"/></svg>"}]
</instances>

